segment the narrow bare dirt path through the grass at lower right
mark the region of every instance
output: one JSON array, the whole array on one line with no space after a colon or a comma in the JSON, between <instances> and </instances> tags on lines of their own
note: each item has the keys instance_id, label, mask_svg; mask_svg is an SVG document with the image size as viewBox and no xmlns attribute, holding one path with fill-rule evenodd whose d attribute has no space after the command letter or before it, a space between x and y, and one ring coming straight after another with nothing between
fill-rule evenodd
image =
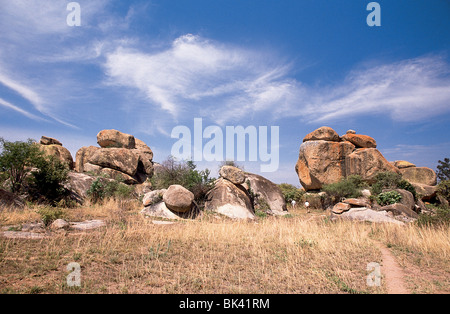
<instances>
[{"instance_id":1,"label":"narrow bare dirt path through the grass at lower right","mask_svg":"<svg viewBox=\"0 0 450 314\"><path fill-rule=\"evenodd\" d=\"M381 274L386 281L388 294L410 294L405 284L405 273L397 263L391 251L384 244L375 241L381 251L383 264L381 265Z\"/></svg>"}]
</instances>

